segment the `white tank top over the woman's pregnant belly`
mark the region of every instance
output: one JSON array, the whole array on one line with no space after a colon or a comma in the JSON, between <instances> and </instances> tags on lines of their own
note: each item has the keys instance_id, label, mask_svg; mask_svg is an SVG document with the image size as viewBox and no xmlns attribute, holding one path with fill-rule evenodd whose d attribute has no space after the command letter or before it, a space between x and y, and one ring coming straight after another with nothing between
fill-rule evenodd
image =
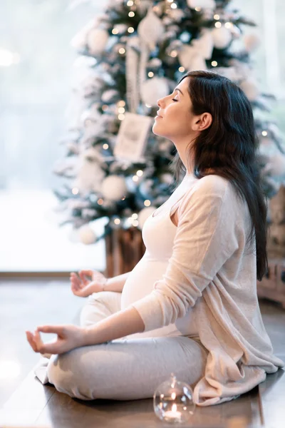
<instances>
[{"instance_id":1,"label":"white tank top over the woman's pregnant belly","mask_svg":"<svg viewBox=\"0 0 285 428\"><path fill-rule=\"evenodd\" d=\"M172 255L177 226L172 223L170 213L176 203L182 199L185 193L197 182L197 178L185 175L180 185L152 215L150 215L142 227L142 240L145 244L145 254L128 276L123 287L121 297L121 310L152 292L155 282L162 280L166 272L168 260ZM159 337L159 336L197 336L195 320L192 317L190 307L185 317L179 318L175 323L148 332L129 335L135 337Z\"/></svg>"}]
</instances>

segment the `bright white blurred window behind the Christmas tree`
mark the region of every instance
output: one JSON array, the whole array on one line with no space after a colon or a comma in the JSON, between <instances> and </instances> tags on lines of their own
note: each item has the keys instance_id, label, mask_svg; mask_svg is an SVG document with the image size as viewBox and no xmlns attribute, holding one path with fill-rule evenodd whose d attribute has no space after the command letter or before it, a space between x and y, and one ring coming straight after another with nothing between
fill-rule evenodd
<instances>
[{"instance_id":1,"label":"bright white blurred window behind the Christmas tree","mask_svg":"<svg viewBox=\"0 0 285 428\"><path fill-rule=\"evenodd\" d=\"M235 0L232 4L258 24L254 31L261 44L252 53L254 71L264 91L278 98L272 115L285 131L284 1ZM63 156L60 141L66 132L65 112L76 61L70 42L91 17L103 11L104 1L92 5L83 1L79 8L70 5L67 0L0 4L1 272L104 268L103 241L95 249L72 242L71 226L58 228L52 211L56 198L51 189L59 183L53 166Z\"/></svg>"}]
</instances>

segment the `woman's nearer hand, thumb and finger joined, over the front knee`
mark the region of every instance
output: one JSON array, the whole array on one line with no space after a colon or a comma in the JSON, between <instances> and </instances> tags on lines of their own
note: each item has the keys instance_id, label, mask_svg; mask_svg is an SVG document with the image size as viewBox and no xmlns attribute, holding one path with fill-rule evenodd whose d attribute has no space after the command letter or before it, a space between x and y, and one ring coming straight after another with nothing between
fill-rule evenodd
<instances>
[{"instance_id":1,"label":"woman's nearer hand, thumb and finger joined, over the front knee","mask_svg":"<svg viewBox=\"0 0 285 428\"><path fill-rule=\"evenodd\" d=\"M53 342L43 343L40 332L56 333L58 337ZM43 325L34 333L26 331L26 338L33 350L41 354L63 354L85 345L84 330L77 325Z\"/></svg>"}]
</instances>

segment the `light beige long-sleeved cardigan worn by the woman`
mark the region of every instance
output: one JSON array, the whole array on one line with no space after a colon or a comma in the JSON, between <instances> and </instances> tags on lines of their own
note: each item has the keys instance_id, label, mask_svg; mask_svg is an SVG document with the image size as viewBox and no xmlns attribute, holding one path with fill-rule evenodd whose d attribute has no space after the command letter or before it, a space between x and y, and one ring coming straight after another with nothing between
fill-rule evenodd
<instances>
[{"instance_id":1,"label":"light beige long-sleeved cardigan worn by the woman","mask_svg":"<svg viewBox=\"0 0 285 428\"><path fill-rule=\"evenodd\" d=\"M284 363L273 355L261 319L256 254L245 248L251 226L247 203L228 180L208 175L187 190L178 218L165 275L150 295L130 306L140 313L145 332L175 322L193 307L199 339L209 351L194 399L200 406L219 404L249 391Z\"/></svg>"}]
</instances>

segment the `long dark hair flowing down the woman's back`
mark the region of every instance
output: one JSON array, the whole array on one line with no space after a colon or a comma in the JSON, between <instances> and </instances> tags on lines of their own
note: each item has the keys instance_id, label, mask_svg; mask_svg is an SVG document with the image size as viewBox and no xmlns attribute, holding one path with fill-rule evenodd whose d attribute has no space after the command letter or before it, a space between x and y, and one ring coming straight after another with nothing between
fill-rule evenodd
<instances>
[{"instance_id":1,"label":"long dark hair flowing down the woman's back","mask_svg":"<svg viewBox=\"0 0 285 428\"><path fill-rule=\"evenodd\" d=\"M232 183L239 198L247 201L252 218L247 243L252 245L255 238L257 279L261 281L268 270L267 200L256 156L258 141L252 106L239 86L218 73L190 71L180 81L185 77L190 77L188 92L192 113L212 114L212 125L187 146L187 159L191 156L196 178L210 173L220 175ZM176 183L182 172L186 172L178 152L170 169L175 173Z\"/></svg>"}]
</instances>

